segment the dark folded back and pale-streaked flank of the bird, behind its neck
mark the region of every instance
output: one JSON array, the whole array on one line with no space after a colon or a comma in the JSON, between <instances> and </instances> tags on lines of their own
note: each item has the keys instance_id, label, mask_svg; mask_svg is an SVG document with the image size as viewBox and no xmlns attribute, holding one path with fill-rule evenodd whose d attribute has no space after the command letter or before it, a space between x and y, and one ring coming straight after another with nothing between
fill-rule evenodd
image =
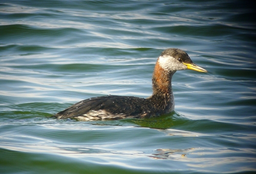
<instances>
[{"instance_id":1,"label":"dark folded back and pale-streaked flank of the bird, behind its neck","mask_svg":"<svg viewBox=\"0 0 256 174\"><path fill-rule=\"evenodd\" d=\"M80 101L54 117L78 120L143 118L150 116L153 110L146 98L106 95Z\"/></svg>"}]
</instances>

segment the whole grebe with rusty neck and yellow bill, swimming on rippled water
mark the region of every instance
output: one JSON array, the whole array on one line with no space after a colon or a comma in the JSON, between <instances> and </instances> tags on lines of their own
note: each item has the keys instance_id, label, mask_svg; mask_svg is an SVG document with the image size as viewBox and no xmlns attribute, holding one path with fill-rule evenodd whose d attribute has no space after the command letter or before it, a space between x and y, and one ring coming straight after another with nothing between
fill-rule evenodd
<instances>
[{"instance_id":1,"label":"whole grebe with rusty neck and yellow bill, swimming on rippled water","mask_svg":"<svg viewBox=\"0 0 256 174\"><path fill-rule=\"evenodd\" d=\"M192 66L192 68L190 67ZM57 113L58 119L108 120L145 118L166 114L174 110L172 77L177 70L194 69L206 72L195 65L189 56L177 48L162 52L153 72L153 94L148 98L106 95L80 101Z\"/></svg>"}]
</instances>

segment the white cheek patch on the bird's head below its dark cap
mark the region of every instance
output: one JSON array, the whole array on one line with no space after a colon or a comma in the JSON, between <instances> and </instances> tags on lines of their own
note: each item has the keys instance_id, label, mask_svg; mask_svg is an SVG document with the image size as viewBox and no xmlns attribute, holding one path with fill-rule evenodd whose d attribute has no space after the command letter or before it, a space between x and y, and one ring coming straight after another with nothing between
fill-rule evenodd
<instances>
[{"instance_id":1,"label":"white cheek patch on the bird's head below its dark cap","mask_svg":"<svg viewBox=\"0 0 256 174\"><path fill-rule=\"evenodd\" d=\"M186 65L180 63L172 56L160 56L158 58L158 63L166 71L187 69Z\"/></svg>"}]
</instances>

